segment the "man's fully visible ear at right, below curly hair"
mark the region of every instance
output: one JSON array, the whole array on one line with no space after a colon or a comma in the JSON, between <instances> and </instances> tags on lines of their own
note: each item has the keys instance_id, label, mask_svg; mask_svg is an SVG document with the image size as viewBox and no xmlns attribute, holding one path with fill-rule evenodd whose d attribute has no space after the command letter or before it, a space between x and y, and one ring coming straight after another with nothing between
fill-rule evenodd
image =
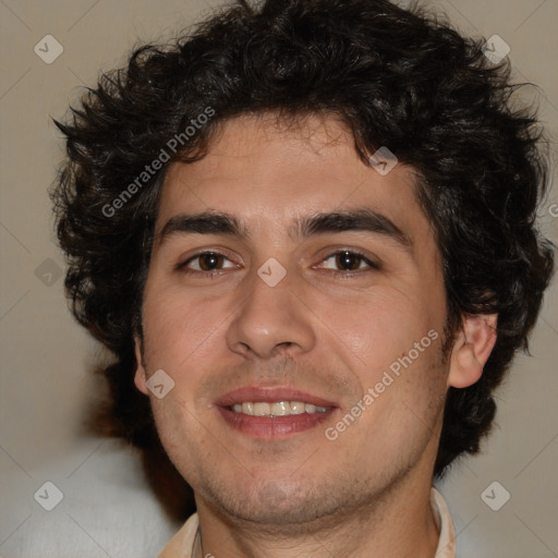
<instances>
[{"instance_id":1,"label":"man's fully visible ear at right, below curly hair","mask_svg":"<svg viewBox=\"0 0 558 558\"><path fill-rule=\"evenodd\" d=\"M463 327L451 351L448 386L466 388L481 378L496 343L497 323L497 314L463 318Z\"/></svg>"}]
</instances>

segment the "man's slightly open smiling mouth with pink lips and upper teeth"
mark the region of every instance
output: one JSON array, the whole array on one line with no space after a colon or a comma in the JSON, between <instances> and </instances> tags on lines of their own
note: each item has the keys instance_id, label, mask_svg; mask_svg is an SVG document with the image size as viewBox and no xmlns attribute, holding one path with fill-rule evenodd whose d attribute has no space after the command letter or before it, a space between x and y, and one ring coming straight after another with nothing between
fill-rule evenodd
<instances>
[{"instance_id":1,"label":"man's slightly open smiling mouth with pink lips and upper teeth","mask_svg":"<svg viewBox=\"0 0 558 558\"><path fill-rule=\"evenodd\" d=\"M279 387L245 387L216 403L227 424L248 436L277 438L314 428L338 409L333 402Z\"/></svg>"}]
</instances>

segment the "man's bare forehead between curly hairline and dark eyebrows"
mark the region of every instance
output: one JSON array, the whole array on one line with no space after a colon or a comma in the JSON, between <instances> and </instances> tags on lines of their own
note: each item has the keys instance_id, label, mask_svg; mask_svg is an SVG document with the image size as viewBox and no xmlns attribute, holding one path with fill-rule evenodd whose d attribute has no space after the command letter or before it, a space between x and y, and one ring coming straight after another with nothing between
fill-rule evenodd
<instances>
[{"instance_id":1,"label":"man's bare forehead between curly hairline and dark eyebrows","mask_svg":"<svg viewBox=\"0 0 558 558\"><path fill-rule=\"evenodd\" d=\"M413 235L429 230L415 191L412 168L398 163L381 175L362 161L351 133L332 117L284 122L242 116L222 124L203 159L170 167L158 231L174 215L217 210L251 229L288 234L293 221L312 213L366 207Z\"/></svg>"}]
</instances>

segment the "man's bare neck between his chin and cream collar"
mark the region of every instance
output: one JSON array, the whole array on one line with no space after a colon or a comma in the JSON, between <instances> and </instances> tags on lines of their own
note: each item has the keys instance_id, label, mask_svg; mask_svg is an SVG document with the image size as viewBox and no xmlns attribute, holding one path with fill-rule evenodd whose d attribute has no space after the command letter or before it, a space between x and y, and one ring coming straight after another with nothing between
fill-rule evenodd
<instances>
[{"instance_id":1,"label":"man's bare neck between his chin and cream collar","mask_svg":"<svg viewBox=\"0 0 558 558\"><path fill-rule=\"evenodd\" d=\"M202 556L432 558L439 533L430 507L432 474L421 473L409 472L365 507L293 525L290 534L231 518L197 498Z\"/></svg>"}]
</instances>

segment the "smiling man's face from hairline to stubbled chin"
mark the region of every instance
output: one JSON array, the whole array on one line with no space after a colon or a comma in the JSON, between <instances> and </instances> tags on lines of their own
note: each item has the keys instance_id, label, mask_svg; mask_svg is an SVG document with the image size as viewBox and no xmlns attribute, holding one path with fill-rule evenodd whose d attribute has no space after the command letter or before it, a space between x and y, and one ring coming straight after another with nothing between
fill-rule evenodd
<instances>
[{"instance_id":1,"label":"smiling man's face from hairline to stubbled chin","mask_svg":"<svg viewBox=\"0 0 558 558\"><path fill-rule=\"evenodd\" d=\"M198 507L304 522L432 478L446 303L415 190L317 117L231 120L169 169L136 386Z\"/></svg>"}]
</instances>

